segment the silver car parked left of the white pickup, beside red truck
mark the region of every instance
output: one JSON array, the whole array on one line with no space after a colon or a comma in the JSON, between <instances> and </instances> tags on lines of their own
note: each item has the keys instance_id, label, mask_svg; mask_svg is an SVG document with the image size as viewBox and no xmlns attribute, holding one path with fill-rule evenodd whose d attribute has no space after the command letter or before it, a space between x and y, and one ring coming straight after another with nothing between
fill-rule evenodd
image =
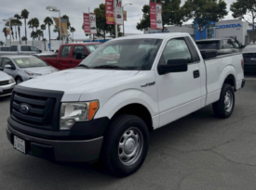
<instances>
[{"instance_id":1,"label":"silver car parked left of the white pickup, beside red truck","mask_svg":"<svg viewBox=\"0 0 256 190\"><path fill-rule=\"evenodd\" d=\"M0 57L0 67L12 76L17 83L58 71L33 56L2 56Z\"/></svg>"}]
</instances>

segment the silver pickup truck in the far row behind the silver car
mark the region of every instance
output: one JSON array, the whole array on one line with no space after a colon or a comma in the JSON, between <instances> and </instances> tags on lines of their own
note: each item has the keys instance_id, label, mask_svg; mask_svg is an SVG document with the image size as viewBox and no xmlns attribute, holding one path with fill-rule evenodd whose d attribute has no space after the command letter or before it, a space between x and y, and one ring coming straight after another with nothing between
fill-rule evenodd
<instances>
[{"instance_id":1,"label":"silver pickup truck in the far row behind the silver car","mask_svg":"<svg viewBox=\"0 0 256 190\"><path fill-rule=\"evenodd\" d=\"M11 56L16 56L16 55L33 55L33 54L46 54L47 55L53 55L53 52L49 51L43 51L34 45L25 45L25 44L17 44L17 45L11 45L8 48L8 51L0 51L0 56L6 56L6 55L11 55Z\"/></svg>"}]
</instances>

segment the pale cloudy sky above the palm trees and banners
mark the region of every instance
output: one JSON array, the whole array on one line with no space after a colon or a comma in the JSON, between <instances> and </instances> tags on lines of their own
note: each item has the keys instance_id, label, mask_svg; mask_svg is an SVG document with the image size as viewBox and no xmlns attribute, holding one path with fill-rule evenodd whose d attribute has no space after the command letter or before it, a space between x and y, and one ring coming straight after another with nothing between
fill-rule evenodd
<instances>
[{"instance_id":1,"label":"pale cloudy sky above the palm trees and banners","mask_svg":"<svg viewBox=\"0 0 256 190\"><path fill-rule=\"evenodd\" d=\"M185 0L182 0L182 4ZM227 3L227 9L235 0L225 0ZM37 18L40 21L40 25L43 24L43 20L46 17L59 17L58 12L47 11L46 6L56 6L61 9L61 15L68 15L72 27L75 28L74 39L86 39L83 30L83 12L93 11L105 0L7 0L1 1L0 6L0 41L5 41L5 35L2 32L5 27L3 19L13 17L15 14L20 14L21 10L26 8L29 12L29 19ZM136 29L136 24L142 18L141 8L145 4L149 3L149 0L123 0L123 5L131 3L131 6L125 6L125 10L128 11L128 21L125 22L126 33L141 33ZM233 19L231 12L225 19ZM23 21L23 20L21 20ZM52 27L53 29L53 27ZM24 25L21 26L21 36L24 36ZM27 29L28 37L30 37L31 29ZM51 38L56 38L57 33L51 32ZM45 37L48 39L47 31L45 31Z\"/></svg>"}]
</instances>

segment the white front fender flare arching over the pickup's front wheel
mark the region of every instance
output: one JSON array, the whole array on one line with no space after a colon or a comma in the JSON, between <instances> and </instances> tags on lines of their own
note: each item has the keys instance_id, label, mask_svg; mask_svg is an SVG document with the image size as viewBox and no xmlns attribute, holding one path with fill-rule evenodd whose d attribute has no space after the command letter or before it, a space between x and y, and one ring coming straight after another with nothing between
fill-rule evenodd
<instances>
[{"instance_id":1,"label":"white front fender flare arching over the pickup's front wheel","mask_svg":"<svg viewBox=\"0 0 256 190\"><path fill-rule=\"evenodd\" d=\"M138 89L128 89L110 97L103 105L101 105L95 118L108 117L109 119L112 119L120 108L124 108L130 104L141 104L149 110L152 117L159 113L157 102L155 102L149 95Z\"/></svg>"}]
</instances>

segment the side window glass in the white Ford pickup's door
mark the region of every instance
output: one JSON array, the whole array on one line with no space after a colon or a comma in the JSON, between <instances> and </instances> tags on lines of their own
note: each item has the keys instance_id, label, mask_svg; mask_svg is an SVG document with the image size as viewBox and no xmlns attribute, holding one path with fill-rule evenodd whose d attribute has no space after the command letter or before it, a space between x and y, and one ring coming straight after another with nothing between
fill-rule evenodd
<instances>
[{"instance_id":1,"label":"side window glass in the white Ford pickup's door","mask_svg":"<svg viewBox=\"0 0 256 190\"><path fill-rule=\"evenodd\" d=\"M177 38L168 41L159 64L167 65L169 59L185 58L188 63L192 63L192 56L184 38Z\"/></svg>"}]
</instances>

